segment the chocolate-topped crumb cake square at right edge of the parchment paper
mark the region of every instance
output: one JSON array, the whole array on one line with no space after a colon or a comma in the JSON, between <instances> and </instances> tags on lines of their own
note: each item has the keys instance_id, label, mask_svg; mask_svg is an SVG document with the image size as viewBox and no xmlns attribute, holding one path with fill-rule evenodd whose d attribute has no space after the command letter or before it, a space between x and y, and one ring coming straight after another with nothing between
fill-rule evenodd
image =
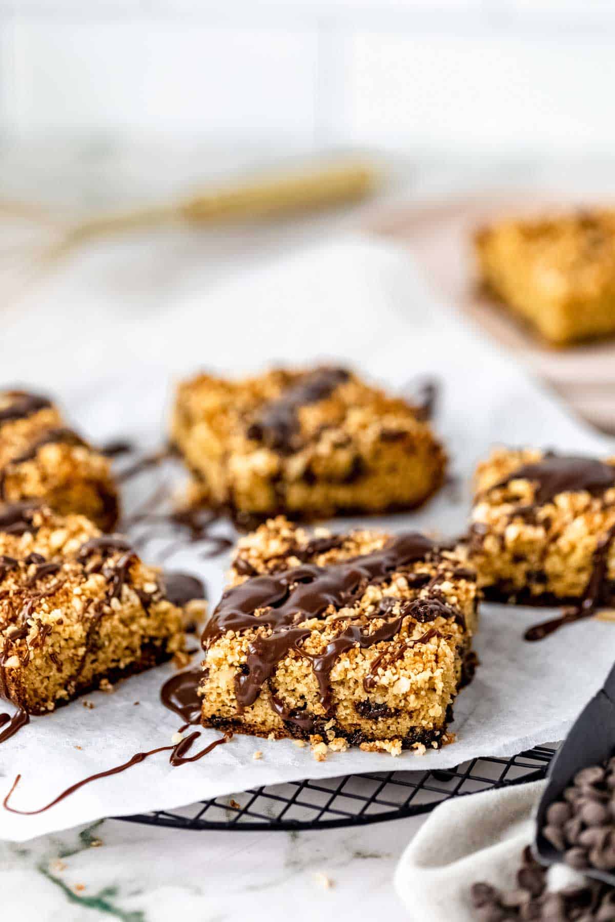
<instances>
[{"instance_id":1,"label":"chocolate-topped crumb cake square at right edge of the parchment paper","mask_svg":"<svg viewBox=\"0 0 615 922\"><path fill-rule=\"evenodd\" d=\"M497 448L479 464L470 556L488 597L615 601L615 457Z\"/></svg>"}]
</instances>

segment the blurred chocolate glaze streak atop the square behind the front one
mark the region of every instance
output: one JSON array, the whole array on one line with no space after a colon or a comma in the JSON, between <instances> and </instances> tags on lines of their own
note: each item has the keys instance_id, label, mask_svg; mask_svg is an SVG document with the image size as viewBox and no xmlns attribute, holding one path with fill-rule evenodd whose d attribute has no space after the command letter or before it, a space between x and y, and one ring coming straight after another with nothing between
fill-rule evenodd
<instances>
[{"instance_id":1,"label":"blurred chocolate glaze streak atop the square behind the front one","mask_svg":"<svg viewBox=\"0 0 615 922\"><path fill-rule=\"evenodd\" d=\"M318 403L330 396L340 384L349 381L343 368L318 368L304 374L278 397L260 409L248 428L249 439L266 444L275 451L290 453L295 448L299 425L299 409Z\"/></svg>"}]
</instances>

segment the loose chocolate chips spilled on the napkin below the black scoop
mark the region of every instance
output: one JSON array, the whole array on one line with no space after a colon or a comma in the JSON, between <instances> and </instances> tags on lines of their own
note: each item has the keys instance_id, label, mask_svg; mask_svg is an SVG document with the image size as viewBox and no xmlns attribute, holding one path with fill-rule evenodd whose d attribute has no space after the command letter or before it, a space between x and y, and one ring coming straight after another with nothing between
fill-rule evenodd
<instances>
[{"instance_id":1,"label":"loose chocolate chips spilled on the napkin below the black scoop","mask_svg":"<svg viewBox=\"0 0 615 922\"><path fill-rule=\"evenodd\" d=\"M547 869L532 857L529 846L516 875L517 887L501 891L489 883L473 883L470 898L477 922L613 922L615 889L585 880L559 891L547 891Z\"/></svg>"}]
</instances>

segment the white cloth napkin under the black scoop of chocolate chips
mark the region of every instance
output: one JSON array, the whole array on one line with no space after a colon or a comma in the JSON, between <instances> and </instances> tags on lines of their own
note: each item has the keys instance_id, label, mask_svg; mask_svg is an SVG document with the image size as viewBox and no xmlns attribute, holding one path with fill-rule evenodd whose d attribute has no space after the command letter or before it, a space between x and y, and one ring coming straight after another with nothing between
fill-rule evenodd
<instances>
[{"instance_id":1,"label":"white cloth napkin under the black scoop of chocolate chips","mask_svg":"<svg viewBox=\"0 0 615 922\"><path fill-rule=\"evenodd\" d=\"M413 922L476 922L469 898L475 881L517 886L521 853L534 837L534 810L546 782L514 785L447 800L420 828L399 859L395 888ZM553 865L547 889L583 877Z\"/></svg>"}]
</instances>

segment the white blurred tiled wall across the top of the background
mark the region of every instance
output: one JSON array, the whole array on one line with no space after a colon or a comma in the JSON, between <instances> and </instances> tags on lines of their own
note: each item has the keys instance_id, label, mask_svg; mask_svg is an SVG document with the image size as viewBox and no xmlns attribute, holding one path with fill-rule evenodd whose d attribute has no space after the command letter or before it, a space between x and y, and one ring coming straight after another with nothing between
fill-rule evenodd
<instances>
[{"instance_id":1,"label":"white blurred tiled wall across the top of the background","mask_svg":"<svg viewBox=\"0 0 615 922\"><path fill-rule=\"evenodd\" d=\"M18 0L3 136L609 155L609 0Z\"/></svg>"}]
</instances>

